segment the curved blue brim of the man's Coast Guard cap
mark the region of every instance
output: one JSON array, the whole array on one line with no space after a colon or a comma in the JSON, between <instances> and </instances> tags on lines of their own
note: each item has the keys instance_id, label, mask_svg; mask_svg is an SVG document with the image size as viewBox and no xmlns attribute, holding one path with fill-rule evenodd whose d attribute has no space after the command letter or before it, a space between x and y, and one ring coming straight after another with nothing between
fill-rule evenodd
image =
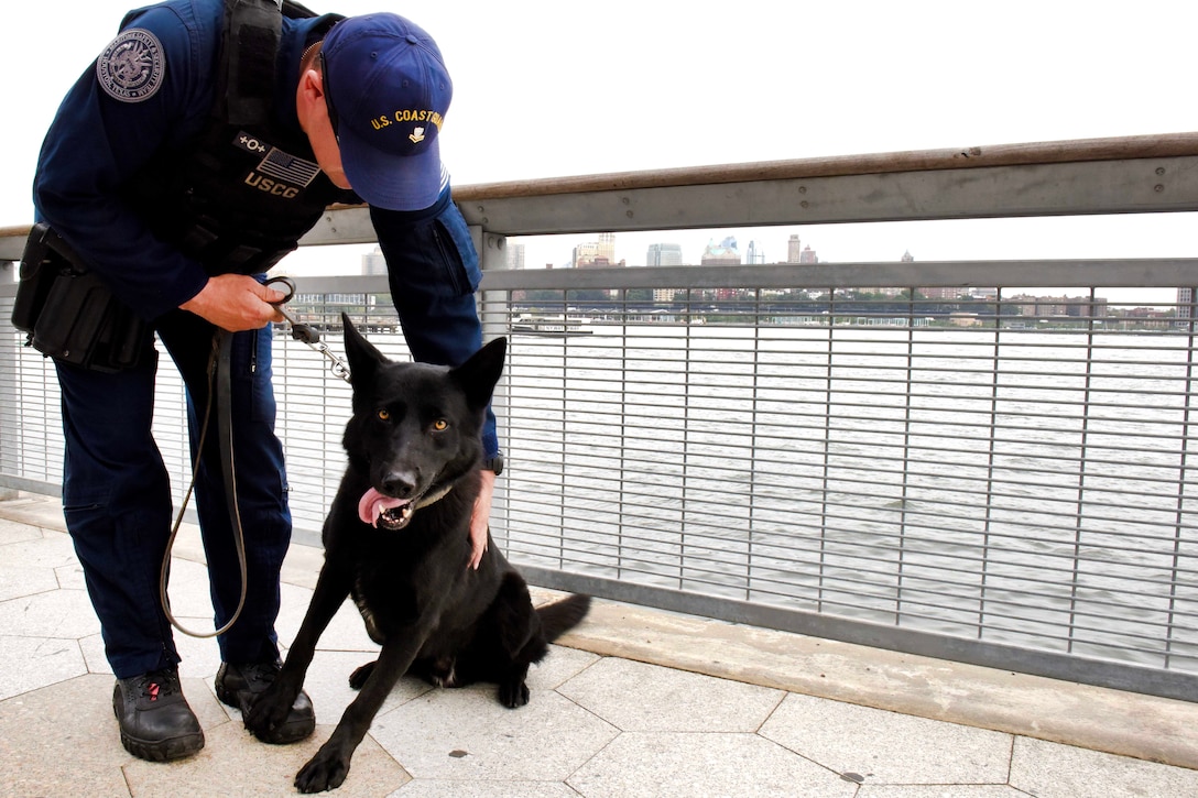
<instances>
[{"instance_id":1,"label":"curved blue brim of the man's Coast Guard cap","mask_svg":"<svg viewBox=\"0 0 1198 798\"><path fill-rule=\"evenodd\" d=\"M441 143L436 138L419 153L407 156L368 146L352 131L339 135L338 146L350 187L368 205L388 211L423 211L441 195L446 181Z\"/></svg>"}]
</instances>

